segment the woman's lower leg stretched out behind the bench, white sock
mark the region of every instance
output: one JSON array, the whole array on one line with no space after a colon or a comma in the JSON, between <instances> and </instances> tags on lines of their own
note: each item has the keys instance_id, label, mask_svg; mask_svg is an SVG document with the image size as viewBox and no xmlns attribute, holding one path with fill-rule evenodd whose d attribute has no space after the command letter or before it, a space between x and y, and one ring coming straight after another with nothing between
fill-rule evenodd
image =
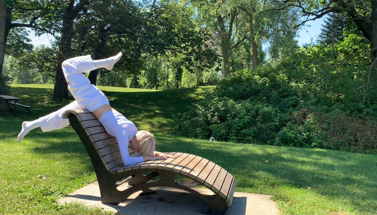
<instances>
[{"instance_id":1,"label":"woman's lower leg stretched out behind the bench, white sock","mask_svg":"<svg viewBox=\"0 0 377 215\"><path fill-rule=\"evenodd\" d=\"M17 136L17 141L21 142L26 134L29 131L41 127L43 132L52 131L52 130L59 130L60 128L67 127L69 125L68 119L63 119L63 113L67 110L75 110L81 109L80 106L77 104L77 101L73 101L70 104L60 108L59 110L50 113L46 116L42 116L39 119L29 122L22 123L22 129L20 134Z\"/></svg>"}]
</instances>

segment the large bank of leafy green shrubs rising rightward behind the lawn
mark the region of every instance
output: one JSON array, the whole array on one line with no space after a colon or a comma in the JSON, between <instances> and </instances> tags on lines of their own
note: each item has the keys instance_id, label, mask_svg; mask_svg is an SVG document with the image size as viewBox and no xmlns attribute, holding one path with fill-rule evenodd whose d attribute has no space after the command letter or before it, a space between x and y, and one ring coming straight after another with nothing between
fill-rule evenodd
<instances>
[{"instance_id":1,"label":"large bank of leafy green shrubs rising rightward behind the lawn","mask_svg":"<svg viewBox=\"0 0 377 215\"><path fill-rule=\"evenodd\" d=\"M175 132L221 141L374 152L365 38L297 49L256 71L237 71L176 118ZM333 48L334 47L334 48Z\"/></svg>"}]
</instances>

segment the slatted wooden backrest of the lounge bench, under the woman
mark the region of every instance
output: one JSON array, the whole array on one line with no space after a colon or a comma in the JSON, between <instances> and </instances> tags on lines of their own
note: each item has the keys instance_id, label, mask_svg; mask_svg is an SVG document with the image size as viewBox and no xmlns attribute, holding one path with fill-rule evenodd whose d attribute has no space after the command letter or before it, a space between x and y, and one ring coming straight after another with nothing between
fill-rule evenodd
<instances>
[{"instance_id":1,"label":"slatted wooden backrest of the lounge bench, under the woman","mask_svg":"<svg viewBox=\"0 0 377 215\"><path fill-rule=\"evenodd\" d=\"M92 112L86 109L69 110L64 113L63 118L68 118L69 114L74 114L78 122L80 122L86 135L89 137L90 143L97 151L98 156L108 171L116 166L124 166L116 138L106 132L105 128ZM76 129L75 131L78 132ZM83 140L81 139L81 141ZM130 144L128 145L128 152L130 157L140 156L139 153L130 149Z\"/></svg>"}]
</instances>

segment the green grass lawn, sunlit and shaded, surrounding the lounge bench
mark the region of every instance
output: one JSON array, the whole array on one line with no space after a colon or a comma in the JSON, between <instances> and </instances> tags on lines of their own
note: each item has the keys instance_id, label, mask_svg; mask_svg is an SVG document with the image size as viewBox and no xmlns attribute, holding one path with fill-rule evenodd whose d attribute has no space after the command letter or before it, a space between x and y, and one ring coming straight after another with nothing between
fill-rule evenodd
<instances>
[{"instance_id":1,"label":"green grass lawn, sunlit and shaded, surrounding the lounge bench","mask_svg":"<svg viewBox=\"0 0 377 215\"><path fill-rule=\"evenodd\" d=\"M281 214L377 214L376 155L172 136L173 114L184 113L204 90L213 88L100 87L110 105L139 130L155 133L157 150L192 153L219 164L236 178L236 191L273 195ZM11 90L24 99L21 104L33 108L31 116L0 118L0 213L106 214L79 204L56 203L96 179L70 126L46 133L35 129L17 143L23 121L55 111L72 99L50 102L53 85L12 85Z\"/></svg>"}]
</instances>

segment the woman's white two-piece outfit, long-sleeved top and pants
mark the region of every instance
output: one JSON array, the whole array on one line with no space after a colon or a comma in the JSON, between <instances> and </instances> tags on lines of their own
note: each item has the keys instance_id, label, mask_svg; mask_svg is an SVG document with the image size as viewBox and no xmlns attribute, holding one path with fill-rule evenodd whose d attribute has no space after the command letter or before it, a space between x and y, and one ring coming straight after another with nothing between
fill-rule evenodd
<instances>
[{"instance_id":1,"label":"woman's white two-piece outfit, long-sleeved top and pants","mask_svg":"<svg viewBox=\"0 0 377 215\"><path fill-rule=\"evenodd\" d=\"M60 108L58 111L39 118L43 132L67 127L69 125L68 119L62 118L66 110L87 109L93 111L104 104L109 104L109 100L102 91L90 84L89 79L82 74L97 69L90 55L67 59L62 63L61 67L63 68L68 88L76 101ZM143 162L142 156L129 156L128 143L138 131L133 122L116 110L106 112L98 120L107 133L116 137L125 166Z\"/></svg>"}]
</instances>

